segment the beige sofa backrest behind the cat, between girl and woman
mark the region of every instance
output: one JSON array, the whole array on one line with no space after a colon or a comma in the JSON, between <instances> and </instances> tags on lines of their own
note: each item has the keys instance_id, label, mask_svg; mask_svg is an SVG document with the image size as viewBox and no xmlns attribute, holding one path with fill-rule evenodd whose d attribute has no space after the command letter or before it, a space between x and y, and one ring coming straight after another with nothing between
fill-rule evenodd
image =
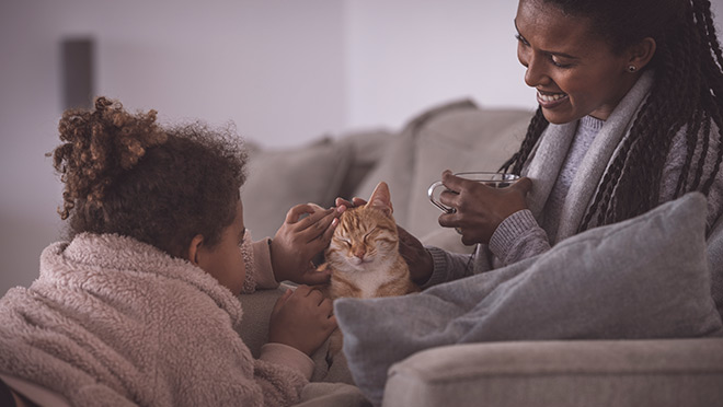
<instances>
[{"instance_id":1,"label":"beige sofa backrest behind the cat, between girl and woman","mask_svg":"<svg viewBox=\"0 0 723 407\"><path fill-rule=\"evenodd\" d=\"M241 188L246 228L255 240L273 236L294 205L368 198L385 181L400 225L425 244L469 253L472 247L454 230L439 226L427 188L446 168L496 171L517 151L531 117L532 112L484 109L462 100L427 109L399 132L357 130L297 148L251 148Z\"/></svg>"}]
</instances>

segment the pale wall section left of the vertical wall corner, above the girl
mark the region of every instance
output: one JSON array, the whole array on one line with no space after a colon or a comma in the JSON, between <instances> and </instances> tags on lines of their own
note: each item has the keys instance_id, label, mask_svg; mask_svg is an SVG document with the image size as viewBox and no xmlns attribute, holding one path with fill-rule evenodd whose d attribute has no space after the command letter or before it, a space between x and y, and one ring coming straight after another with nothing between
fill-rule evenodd
<instances>
[{"instance_id":1,"label":"pale wall section left of the vertical wall corner, above the girl","mask_svg":"<svg viewBox=\"0 0 723 407\"><path fill-rule=\"evenodd\" d=\"M92 36L97 94L163 121L236 123L267 147L346 127L336 0L0 1L0 294L58 239L60 42Z\"/></svg>"}]
</instances>

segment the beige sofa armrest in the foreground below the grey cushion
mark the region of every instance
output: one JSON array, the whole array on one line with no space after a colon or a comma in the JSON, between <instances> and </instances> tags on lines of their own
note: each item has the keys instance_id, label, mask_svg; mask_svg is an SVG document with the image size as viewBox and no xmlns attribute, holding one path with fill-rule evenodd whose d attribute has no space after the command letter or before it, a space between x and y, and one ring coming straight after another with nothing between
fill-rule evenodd
<instances>
[{"instance_id":1,"label":"beige sofa armrest in the foreground below the grey cushion","mask_svg":"<svg viewBox=\"0 0 723 407\"><path fill-rule=\"evenodd\" d=\"M723 339L458 345L389 372L383 406L714 406Z\"/></svg>"}]
</instances>

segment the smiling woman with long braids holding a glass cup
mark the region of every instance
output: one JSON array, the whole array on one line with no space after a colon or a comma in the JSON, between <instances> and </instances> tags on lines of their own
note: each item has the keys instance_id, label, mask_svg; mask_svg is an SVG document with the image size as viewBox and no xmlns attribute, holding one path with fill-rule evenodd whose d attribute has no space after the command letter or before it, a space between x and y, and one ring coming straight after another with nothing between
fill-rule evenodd
<instances>
[{"instance_id":1,"label":"smiling woman with long braids holding a glass cup","mask_svg":"<svg viewBox=\"0 0 723 407\"><path fill-rule=\"evenodd\" d=\"M493 189L443 174L467 255L402 247L416 281L441 281L541 254L573 234L641 214L688 191L708 197L719 310L723 211L723 61L705 0L521 0L515 18L525 82L539 108L503 165L524 177ZM529 194L528 194L529 193ZM720 245L720 243L718 243ZM719 276L719 282L716 277Z\"/></svg>"}]
</instances>

